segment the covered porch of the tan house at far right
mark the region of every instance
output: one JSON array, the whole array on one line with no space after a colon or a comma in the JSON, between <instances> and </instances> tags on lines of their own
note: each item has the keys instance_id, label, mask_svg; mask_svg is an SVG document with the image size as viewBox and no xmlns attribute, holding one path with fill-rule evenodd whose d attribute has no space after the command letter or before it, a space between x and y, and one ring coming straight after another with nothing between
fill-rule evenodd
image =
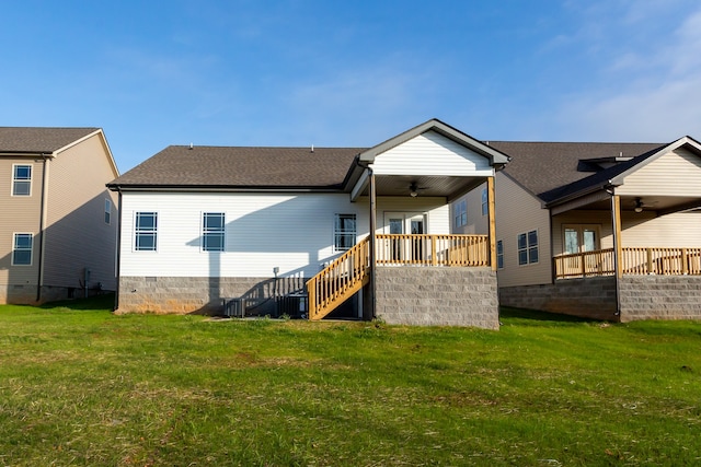
<instances>
[{"instance_id":1,"label":"covered porch of the tan house at far right","mask_svg":"<svg viewBox=\"0 0 701 467\"><path fill-rule=\"evenodd\" d=\"M699 185L631 182L640 180L551 208L549 303L620 322L700 319ZM586 293L573 293L573 283Z\"/></svg>"}]
</instances>

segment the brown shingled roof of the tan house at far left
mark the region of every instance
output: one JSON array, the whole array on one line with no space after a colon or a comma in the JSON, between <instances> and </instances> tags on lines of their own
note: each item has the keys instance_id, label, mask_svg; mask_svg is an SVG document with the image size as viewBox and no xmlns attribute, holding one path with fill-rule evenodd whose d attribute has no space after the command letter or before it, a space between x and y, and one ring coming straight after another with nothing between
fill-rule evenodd
<instances>
[{"instance_id":1,"label":"brown shingled roof of the tan house at far left","mask_svg":"<svg viewBox=\"0 0 701 467\"><path fill-rule=\"evenodd\" d=\"M99 128L0 127L0 154L51 153Z\"/></svg>"}]
</instances>

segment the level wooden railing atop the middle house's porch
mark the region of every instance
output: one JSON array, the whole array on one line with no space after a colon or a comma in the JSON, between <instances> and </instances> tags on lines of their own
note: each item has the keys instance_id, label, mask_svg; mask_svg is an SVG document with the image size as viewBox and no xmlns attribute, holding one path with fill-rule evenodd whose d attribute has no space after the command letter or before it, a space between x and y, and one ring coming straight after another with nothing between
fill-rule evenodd
<instances>
[{"instance_id":1,"label":"level wooden railing atop the middle house's porch","mask_svg":"<svg viewBox=\"0 0 701 467\"><path fill-rule=\"evenodd\" d=\"M377 265L489 266L486 235L378 234Z\"/></svg>"}]
</instances>

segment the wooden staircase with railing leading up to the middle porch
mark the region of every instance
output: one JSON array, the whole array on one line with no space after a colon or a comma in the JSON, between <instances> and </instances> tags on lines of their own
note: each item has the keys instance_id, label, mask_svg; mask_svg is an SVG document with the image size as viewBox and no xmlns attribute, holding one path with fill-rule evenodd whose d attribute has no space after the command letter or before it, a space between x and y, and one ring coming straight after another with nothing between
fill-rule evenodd
<instances>
[{"instance_id":1,"label":"wooden staircase with railing leading up to the middle porch","mask_svg":"<svg viewBox=\"0 0 701 467\"><path fill-rule=\"evenodd\" d=\"M361 240L307 281L309 319L321 319L370 280L370 242Z\"/></svg>"}]
</instances>

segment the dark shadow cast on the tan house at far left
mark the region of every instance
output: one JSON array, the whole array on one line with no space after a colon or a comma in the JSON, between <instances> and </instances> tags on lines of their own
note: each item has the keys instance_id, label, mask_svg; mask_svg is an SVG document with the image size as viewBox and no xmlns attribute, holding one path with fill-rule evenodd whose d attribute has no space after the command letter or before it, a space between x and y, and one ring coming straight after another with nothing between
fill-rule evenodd
<instances>
[{"instance_id":1,"label":"dark shadow cast on the tan house at far left","mask_svg":"<svg viewBox=\"0 0 701 467\"><path fill-rule=\"evenodd\" d=\"M111 200L110 223L105 199ZM51 209L49 200L49 219ZM39 273L44 280L38 303L115 291L117 224L115 203L105 189L44 229L43 262L39 232L4 231L0 242L9 253L0 257L0 303L36 304ZM32 234L30 265L13 265L15 233Z\"/></svg>"}]
</instances>

